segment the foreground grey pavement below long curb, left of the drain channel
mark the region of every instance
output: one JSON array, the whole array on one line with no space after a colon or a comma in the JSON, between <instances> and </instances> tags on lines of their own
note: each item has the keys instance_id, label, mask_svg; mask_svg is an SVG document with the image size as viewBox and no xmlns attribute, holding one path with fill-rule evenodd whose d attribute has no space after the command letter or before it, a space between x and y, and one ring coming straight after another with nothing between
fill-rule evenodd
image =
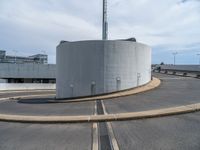
<instances>
[{"instance_id":1,"label":"foreground grey pavement below long curb, left of the drain channel","mask_svg":"<svg viewBox=\"0 0 200 150\"><path fill-rule=\"evenodd\" d=\"M91 150L91 124L0 122L1 150Z\"/></svg>"}]
</instances>

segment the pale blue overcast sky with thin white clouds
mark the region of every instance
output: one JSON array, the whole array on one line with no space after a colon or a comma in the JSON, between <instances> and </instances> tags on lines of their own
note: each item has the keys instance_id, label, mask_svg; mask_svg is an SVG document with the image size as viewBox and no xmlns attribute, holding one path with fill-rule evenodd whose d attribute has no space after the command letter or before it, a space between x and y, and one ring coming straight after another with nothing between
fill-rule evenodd
<instances>
[{"instance_id":1,"label":"pale blue overcast sky with thin white clouds","mask_svg":"<svg viewBox=\"0 0 200 150\"><path fill-rule=\"evenodd\" d=\"M197 64L200 0L108 0L109 39L136 37L153 63ZM61 40L101 39L102 0L0 0L0 49L49 55Z\"/></svg>"}]
</instances>

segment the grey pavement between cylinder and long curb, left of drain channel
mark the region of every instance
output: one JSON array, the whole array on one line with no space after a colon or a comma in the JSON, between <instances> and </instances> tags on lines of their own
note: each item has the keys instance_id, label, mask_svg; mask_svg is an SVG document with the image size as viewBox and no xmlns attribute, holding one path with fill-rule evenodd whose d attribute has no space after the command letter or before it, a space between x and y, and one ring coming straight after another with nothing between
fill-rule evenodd
<instances>
[{"instance_id":1,"label":"grey pavement between cylinder and long curb, left of drain channel","mask_svg":"<svg viewBox=\"0 0 200 150\"><path fill-rule=\"evenodd\" d=\"M46 103L49 98L31 99L29 101L2 101L0 113L13 115L92 115L94 102L83 103Z\"/></svg>"}]
</instances>

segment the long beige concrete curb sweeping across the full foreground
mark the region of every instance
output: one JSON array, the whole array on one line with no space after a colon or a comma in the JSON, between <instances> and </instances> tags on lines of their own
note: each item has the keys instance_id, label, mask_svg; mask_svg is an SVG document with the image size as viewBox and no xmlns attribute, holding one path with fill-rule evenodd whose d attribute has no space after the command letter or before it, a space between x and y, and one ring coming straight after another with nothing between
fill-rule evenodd
<instances>
[{"instance_id":1,"label":"long beige concrete curb sweeping across the full foreground","mask_svg":"<svg viewBox=\"0 0 200 150\"><path fill-rule=\"evenodd\" d=\"M129 112L106 115L88 115L88 116L24 116L0 114L1 121L22 122L22 123L81 123L81 122L102 122L102 121L120 121L137 120L145 118L154 118L162 116L171 116L184 113L191 113L200 110L200 103L171 107L164 109L148 110L141 112Z\"/></svg>"}]
</instances>

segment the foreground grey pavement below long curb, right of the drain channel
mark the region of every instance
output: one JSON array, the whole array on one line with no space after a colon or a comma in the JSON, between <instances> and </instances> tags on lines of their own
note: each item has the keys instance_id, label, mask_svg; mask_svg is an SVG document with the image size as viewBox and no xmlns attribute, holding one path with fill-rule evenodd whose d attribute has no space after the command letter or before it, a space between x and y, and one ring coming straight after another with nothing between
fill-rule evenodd
<instances>
[{"instance_id":1,"label":"foreground grey pavement below long curb, right of the drain channel","mask_svg":"<svg viewBox=\"0 0 200 150\"><path fill-rule=\"evenodd\" d=\"M123 150L199 150L200 113L113 122Z\"/></svg>"}]
</instances>

